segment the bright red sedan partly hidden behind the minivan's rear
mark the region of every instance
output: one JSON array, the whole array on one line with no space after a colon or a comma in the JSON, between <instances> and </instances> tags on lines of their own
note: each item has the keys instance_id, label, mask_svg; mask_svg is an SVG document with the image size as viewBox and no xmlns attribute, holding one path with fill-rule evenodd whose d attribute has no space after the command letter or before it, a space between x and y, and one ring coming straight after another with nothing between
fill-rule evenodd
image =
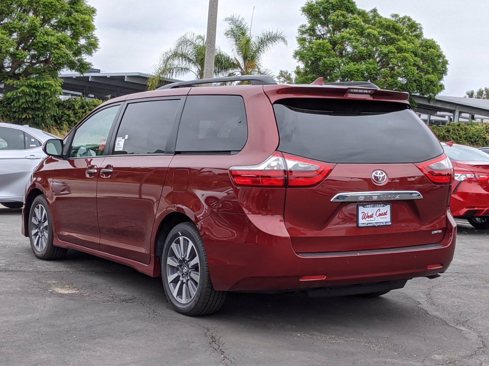
<instances>
[{"instance_id":1,"label":"bright red sedan partly hidden behind the minivan's rear","mask_svg":"<svg viewBox=\"0 0 489 366\"><path fill-rule=\"evenodd\" d=\"M455 170L450 200L452 215L467 219L477 229L489 229L489 155L451 141L442 146Z\"/></svg>"}]
</instances>

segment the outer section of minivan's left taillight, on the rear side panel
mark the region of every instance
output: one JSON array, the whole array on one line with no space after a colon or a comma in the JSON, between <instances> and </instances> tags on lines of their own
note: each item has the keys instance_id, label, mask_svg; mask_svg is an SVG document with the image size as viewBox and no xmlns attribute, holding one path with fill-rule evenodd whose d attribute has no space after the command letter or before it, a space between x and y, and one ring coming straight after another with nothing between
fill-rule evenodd
<instances>
[{"instance_id":1,"label":"outer section of minivan's left taillight, on the rear side panel","mask_svg":"<svg viewBox=\"0 0 489 366\"><path fill-rule=\"evenodd\" d=\"M231 166L229 172L236 185L285 187L287 182L284 157L279 152L261 164Z\"/></svg>"}]
</instances>

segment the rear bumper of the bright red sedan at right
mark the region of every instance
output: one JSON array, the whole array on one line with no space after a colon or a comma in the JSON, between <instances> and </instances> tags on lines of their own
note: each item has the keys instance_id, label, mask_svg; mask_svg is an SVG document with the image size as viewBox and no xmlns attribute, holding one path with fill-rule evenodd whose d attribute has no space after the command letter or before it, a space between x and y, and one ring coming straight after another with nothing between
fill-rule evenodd
<instances>
[{"instance_id":1,"label":"rear bumper of the bright red sedan at right","mask_svg":"<svg viewBox=\"0 0 489 366\"><path fill-rule=\"evenodd\" d=\"M478 182L461 182L455 188L450 199L453 216L469 218L489 215L489 192Z\"/></svg>"}]
</instances>

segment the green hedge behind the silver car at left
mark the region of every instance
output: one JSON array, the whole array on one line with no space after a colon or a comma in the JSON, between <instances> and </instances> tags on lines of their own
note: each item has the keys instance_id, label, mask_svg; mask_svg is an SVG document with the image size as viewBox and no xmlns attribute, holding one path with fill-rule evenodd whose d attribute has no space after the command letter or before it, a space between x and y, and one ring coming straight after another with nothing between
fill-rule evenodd
<instances>
[{"instance_id":1,"label":"green hedge behind the silver car at left","mask_svg":"<svg viewBox=\"0 0 489 366\"><path fill-rule=\"evenodd\" d=\"M28 118L16 119L10 110L9 99L4 98L0 100L0 121L29 124L32 127L63 136L95 107L102 104L102 102L99 99L77 97L69 98L65 101L58 99L56 101L56 111L46 116L42 122L34 123L34 121Z\"/></svg>"}]
</instances>

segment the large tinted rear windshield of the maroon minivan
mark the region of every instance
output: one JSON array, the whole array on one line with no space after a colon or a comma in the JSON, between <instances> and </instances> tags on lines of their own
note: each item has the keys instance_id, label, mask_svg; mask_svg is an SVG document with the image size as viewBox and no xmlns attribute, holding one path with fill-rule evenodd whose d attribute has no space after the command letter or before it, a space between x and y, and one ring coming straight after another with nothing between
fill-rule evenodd
<instances>
[{"instance_id":1,"label":"large tinted rear windshield of the maroon minivan","mask_svg":"<svg viewBox=\"0 0 489 366\"><path fill-rule=\"evenodd\" d=\"M401 103L284 99L273 105L279 150L329 163L419 163L443 153Z\"/></svg>"}]
</instances>

